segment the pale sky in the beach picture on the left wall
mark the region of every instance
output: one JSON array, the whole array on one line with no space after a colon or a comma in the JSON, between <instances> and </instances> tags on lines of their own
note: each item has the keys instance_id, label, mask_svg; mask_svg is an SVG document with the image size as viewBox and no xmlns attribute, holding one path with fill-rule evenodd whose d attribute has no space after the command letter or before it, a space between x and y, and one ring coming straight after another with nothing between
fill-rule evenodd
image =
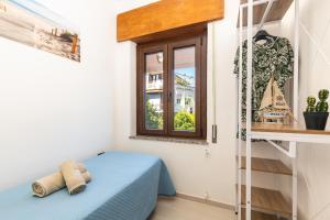
<instances>
[{"instance_id":1,"label":"pale sky in the beach picture on the left wall","mask_svg":"<svg viewBox=\"0 0 330 220\"><path fill-rule=\"evenodd\" d=\"M26 10L28 12L41 16L42 19L54 23L57 26L64 29L70 29L78 33L78 29L75 25L70 24L69 21L65 20L63 16L56 12L47 9L43 4L38 3L35 0L7 0L8 2L20 7L21 9Z\"/></svg>"}]
</instances>

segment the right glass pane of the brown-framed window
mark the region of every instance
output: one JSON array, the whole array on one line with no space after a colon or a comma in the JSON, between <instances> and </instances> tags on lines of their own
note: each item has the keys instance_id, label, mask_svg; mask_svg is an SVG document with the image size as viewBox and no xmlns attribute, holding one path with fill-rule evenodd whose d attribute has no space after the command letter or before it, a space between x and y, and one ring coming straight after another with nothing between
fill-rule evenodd
<instances>
[{"instance_id":1,"label":"right glass pane of the brown-framed window","mask_svg":"<svg viewBox=\"0 0 330 220\"><path fill-rule=\"evenodd\" d=\"M196 130L195 121L196 64L195 46L174 51L174 130Z\"/></svg>"}]
</instances>

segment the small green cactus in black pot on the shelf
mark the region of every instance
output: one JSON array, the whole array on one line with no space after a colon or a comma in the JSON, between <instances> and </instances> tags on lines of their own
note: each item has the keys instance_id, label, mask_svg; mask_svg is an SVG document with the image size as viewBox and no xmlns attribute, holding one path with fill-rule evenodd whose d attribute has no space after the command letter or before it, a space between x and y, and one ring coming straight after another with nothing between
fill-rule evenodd
<instances>
[{"instance_id":1,"label":"small green cactus in black pot on the shelf","mask_svg":"<svg viewBox=\"0 0 330 220\"><path fill-rule=\"evenodd\" d=\"M329 90L322 89L319 91L319 101L316 105L315 97L307 98L307 109L304 112L306 128L310 130L324 130L329 117L329 105L327 99ZM316 105L316 106L315 106Z\"/></svg>"}]
</instances>

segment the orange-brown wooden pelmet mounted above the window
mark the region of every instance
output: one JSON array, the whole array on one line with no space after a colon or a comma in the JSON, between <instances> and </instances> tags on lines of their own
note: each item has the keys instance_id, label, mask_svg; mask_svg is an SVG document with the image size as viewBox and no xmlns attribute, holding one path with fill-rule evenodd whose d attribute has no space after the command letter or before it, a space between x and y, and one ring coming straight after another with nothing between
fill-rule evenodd
<instances>
[{"instance_id":1,"label":"orange-brown wooden pelmet mounted above the window","mask_svg":"<svg viewBox=\"0 0 330 220\"><path fill-rule=\"evenodd\" d=\"M200 24L223 19L224 0L161 0L117 18L117 40L141 42L177 29L196 29Z\"/></svg>"}]
</instances>

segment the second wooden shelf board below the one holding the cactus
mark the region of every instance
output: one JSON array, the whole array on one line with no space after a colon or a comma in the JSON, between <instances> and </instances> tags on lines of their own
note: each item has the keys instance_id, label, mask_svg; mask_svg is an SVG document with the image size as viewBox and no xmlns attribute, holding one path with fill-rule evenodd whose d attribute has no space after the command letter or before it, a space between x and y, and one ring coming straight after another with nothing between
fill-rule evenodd
<instances>
[{"instance_id":1,"label":"second wooden shelf board below the one holding the cactus","mask_svg":"<svg viewBox=\"0 0 330 220\"><path fill-rule=\"evenodd\" d=\"M245 186L242 186L242 205L246 205ZM252 187L251 206L254 209L292 215L292 205L285 200L280 191Z\"/></svg>"}]
</instances>

